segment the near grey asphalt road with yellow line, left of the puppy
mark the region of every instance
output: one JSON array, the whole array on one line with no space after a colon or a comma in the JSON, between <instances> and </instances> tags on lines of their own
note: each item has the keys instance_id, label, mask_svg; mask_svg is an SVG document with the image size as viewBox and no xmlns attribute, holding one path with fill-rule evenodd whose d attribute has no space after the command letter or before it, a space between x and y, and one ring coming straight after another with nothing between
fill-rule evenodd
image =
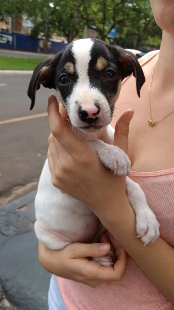
<instances>
[{"instance_id":1,"label":"near grey asphalt road with yellow line, left of the puppy","mask_svg":"<svg viewBox=\"0 0 174 310\"><path fill-rule=\"evenodd\" d=\"M26 74L0 74L1 201L14 187L20 190L24 185L38 180L47 154L48 119L37 114L46 113L51 91L41 86L37 91L35 107L29 111L27 89L30 78L31 75ZM36 118L21 120L21 117L34 115ZM13 118L17 120L11 122Z\"/></svg>"}]
</instances>

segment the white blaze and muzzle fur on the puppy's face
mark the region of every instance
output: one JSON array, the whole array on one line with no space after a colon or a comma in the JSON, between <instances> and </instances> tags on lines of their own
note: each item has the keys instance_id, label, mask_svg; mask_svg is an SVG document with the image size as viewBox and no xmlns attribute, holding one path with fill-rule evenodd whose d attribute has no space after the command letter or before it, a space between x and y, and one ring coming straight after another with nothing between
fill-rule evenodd
<instances>
[{"instance_id":1,"label":"white blaze and muzzle fur on the puppy's face","mask_svg":"<svg viewBox=\"0 0 174 310\"><path fill-rule=\"evenodd\" d=\"M78 105L76 101L78 101L81 106L83 106L83 104L94 106L95 100L98 100L98 102L100 102L101 111L97 125L106 126L111 122L111 111L108 100L98 88L90 85L88 66L91 60L92 46L93 41L91 39L74 41L72 46L72 54L76 61L75 68L78 73L78 80L72 93L66 99L66 103L70 121L72 125L77 128L83 127L84 122L82 122L77 115Z\"/></svg>"}]
</instances>

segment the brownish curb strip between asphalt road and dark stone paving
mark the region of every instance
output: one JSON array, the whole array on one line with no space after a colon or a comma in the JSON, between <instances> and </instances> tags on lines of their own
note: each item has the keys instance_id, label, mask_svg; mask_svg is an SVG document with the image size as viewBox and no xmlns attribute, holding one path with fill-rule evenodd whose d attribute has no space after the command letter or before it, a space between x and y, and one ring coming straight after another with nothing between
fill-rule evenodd
<instances>
[{"instance_id":1,"label":"brownish curb strip between asphalt road and dark stone paving","mask_svg":"<svg viewBox=\"0 0 174 310\"><path fill-rule=\"evenodd\" d=\"M7 205L0 207L0 214L7 211L15 211L16 209L28 204L35 199L37 190L34 190L16 200L9 202Z\"/></svg>"}]
</instances>

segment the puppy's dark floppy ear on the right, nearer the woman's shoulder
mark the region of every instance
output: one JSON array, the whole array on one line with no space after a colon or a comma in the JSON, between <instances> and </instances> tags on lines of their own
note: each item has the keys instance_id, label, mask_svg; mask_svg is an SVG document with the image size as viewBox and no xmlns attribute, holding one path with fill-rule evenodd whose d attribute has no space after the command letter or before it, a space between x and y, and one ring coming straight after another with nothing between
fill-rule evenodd
<instances>
[{"instance_id":1,"label":"puppy's dark floppy ear on the right, nearer the woman's shoulder","mask_svg":"<svg viewBox=\"0 0 174 310\"><path fill-rule=\"evenodd\" d=\"M117 50L119 66L122 71L122 80L133 73L136 78L137 94L138 97L140 97L140 90L146 79L137 57L133 53L125 51L121 47L117 47Z\"/></svg>"}]
</instances>

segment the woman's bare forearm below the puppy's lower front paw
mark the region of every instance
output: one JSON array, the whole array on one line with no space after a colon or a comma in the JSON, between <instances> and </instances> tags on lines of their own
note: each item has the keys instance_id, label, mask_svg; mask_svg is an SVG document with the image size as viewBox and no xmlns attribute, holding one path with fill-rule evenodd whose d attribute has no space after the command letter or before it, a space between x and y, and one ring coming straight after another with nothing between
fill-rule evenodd
<instances>
[{"instance_id":1,"label":"woman's bare forearm below the puppy's lower front paw","mask_svg":"<svg viewBox=\"0 0 174 310\"><path fill-rule=\"evenodd\" d=\"M160 237L151 246L143 246L136 235L135 215L130 205L126 206L126 212L126 217L123 210L117 217L105 216L101 221L154 286L174 304L174 249Z\"/></svg>"}]
</instances>

